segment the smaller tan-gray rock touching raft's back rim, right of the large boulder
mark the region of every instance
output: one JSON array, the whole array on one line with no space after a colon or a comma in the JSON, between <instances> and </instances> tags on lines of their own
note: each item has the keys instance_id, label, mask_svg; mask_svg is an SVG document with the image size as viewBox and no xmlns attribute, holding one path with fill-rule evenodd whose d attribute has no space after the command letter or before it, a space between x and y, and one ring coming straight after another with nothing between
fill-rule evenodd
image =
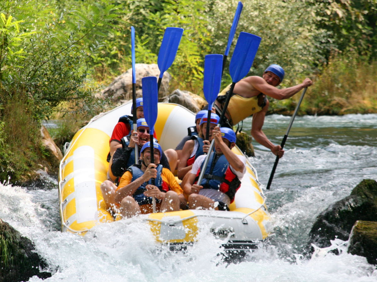
<instances>
[{"instance_id":1,"label":"smaller tan-gray rock touching raft's back rim, right of the large boulder","mask_svg":"<svg viewBox=\"0 0 377 282\"><path fill-rule=\"evenodd\" d=\"M164 97L161 102L175 103L184 106L195 113L199 112L205 105L207 105L207 102L202 97L189 91L182 91L179 89L176 89L169 96Z\"/></svg>"}]
</instances>

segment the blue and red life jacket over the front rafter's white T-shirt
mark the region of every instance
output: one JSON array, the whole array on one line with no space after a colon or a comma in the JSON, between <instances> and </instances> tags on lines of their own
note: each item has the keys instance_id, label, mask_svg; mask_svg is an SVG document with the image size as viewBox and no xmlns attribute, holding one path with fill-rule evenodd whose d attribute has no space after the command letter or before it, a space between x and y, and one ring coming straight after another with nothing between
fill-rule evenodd
<instances>
[{"instance_id":1,"label":"blue and red life jacket over the front rafter's white T-shirt","mask_svg":"<svg viewBox=\"0 0 377 282\"><path fill-rule=\"evenodd\" d=\"M216 158L215 161L213 161L213 158ZM207 165L205 168L204 176L200 185L205 189L215 189L227 194L232 203L236 191L241 186L241 181L238 179L237 175L231 171L227 158L225 158L224 155L217 156L216 153L212 153L208 160L208 164L210 165ZM204 162L196 174L195 181L198 180L203 165Z\"/></svg>"}]
</instances>

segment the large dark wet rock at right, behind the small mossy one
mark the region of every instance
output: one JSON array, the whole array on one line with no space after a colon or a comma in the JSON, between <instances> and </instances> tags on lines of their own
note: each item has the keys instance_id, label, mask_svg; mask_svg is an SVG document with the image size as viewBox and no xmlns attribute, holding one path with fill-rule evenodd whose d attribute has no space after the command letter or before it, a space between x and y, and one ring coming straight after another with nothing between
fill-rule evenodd
<instances>
[{"instance_id":1,"label":"large dark wet rock at right, behind the small mossy one","mask_svg":"<svg viewBox=\"0 0 377 282\"><path fill-rule=\"evenodd\" d=\"M310 231L311 242L318 247L330 246L330 240L348 240L357 220L377 221L377 182L364 179L350 196L323 211Z\"/></svg>"}]
</instances>

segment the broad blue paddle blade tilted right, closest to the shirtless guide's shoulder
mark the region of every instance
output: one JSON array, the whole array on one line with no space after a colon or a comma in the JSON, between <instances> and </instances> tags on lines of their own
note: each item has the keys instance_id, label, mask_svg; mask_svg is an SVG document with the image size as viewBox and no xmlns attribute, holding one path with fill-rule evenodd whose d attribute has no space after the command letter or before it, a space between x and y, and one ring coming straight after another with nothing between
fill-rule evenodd
<instances>
[{"instance_id":1,"label":"broad blue paddle blade tilted right, closest to the shirtless guide's shoulder","mask_svg":"<svg viewBox=\"0 0 377 282\"><path fill-rule=\"evenodd\" d=\"M247 32L239 34L229 65L232 82L238 82L249 72L261 39L261 37Z\"/></svg>"}]
</instances>

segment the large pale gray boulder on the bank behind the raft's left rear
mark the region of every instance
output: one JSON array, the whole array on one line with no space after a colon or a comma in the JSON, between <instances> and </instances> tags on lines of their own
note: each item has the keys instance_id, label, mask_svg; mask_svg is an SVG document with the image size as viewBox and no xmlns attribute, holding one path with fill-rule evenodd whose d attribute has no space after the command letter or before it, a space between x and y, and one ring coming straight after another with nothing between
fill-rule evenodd
<instances>
[{"instance_id":1,"label":"large pale gray boulder on the bank behind the raft's left rear","mask_svg":"<svg viewBox=\"0 0 377 282\"><path fill-rule=\"evenodd\" d=\"M135 64L136 73L136 97L142 97L143 91L141 89L141 79L146 76L158 76L160 71L157 64ZM172 76L165 71L162 77L161 86L158 92L158 97L165 97L168 95L169 82ZM107 86L102 92L101 97L110 97L114 102L123 102L132 99L132 68L125 73L116 77L113 82Z\"/></svg>"}]
</instances>

